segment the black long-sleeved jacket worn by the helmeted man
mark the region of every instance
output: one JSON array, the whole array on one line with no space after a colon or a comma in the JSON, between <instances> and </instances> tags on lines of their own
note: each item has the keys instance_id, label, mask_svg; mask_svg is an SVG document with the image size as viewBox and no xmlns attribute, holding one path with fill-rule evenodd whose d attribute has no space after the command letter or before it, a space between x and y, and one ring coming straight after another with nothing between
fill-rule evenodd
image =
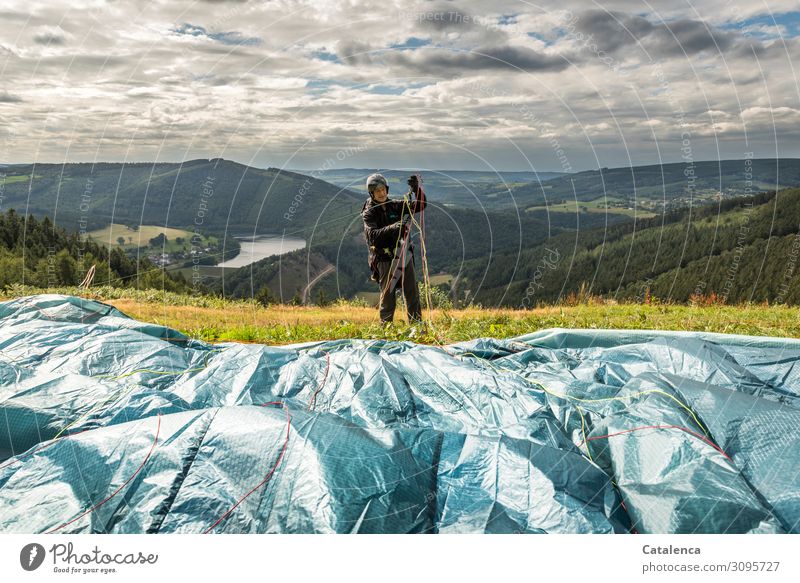
<instances>
[{"instance_id":1,"label":"black long-sleeved jacket worn by the helmeted man","mask_svg":"<svg viewBox=\"0 0 800 583\"><path fill-rule=\"evenodd\" d=\"M406 204L403 200L387 200L377 203L368 198L361 207L361 218L364 220L364 239L369 247L369 265L375 273L376 261L391 261L395 251L401 244L400 221L404 215L418 213L425 209L425 193ZM408 252L413 254L414 246L409 242ZM374 279L374 278L373 278Z\"/></svg>"}]
</instances>

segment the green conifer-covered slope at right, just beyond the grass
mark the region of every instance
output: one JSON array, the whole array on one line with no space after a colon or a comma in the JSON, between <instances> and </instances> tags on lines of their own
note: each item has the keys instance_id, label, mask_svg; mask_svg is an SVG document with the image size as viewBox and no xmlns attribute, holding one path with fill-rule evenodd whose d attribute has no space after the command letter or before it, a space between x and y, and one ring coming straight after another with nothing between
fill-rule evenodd
<instances>
[{"instance_id":1,"label":"green conifer-covered slope at right, just beyond the grass","mask_svg":"<svg viewBox=\"0 0 800 583\"><path fill-rule=\"evenodd\" d=\"M798 261L800 189L787 189L583 230L577 237L557 235L520 256L498 254L488 266L468 262L462 287L486 305L535 305L580 293L797 304Z\"/></svg>"}]
</instances>

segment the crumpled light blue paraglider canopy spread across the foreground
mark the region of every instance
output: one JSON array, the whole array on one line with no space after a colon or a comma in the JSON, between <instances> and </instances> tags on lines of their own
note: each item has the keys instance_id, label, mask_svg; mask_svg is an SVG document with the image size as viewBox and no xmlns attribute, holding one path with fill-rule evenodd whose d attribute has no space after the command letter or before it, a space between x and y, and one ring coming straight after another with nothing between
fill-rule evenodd
<instances>
[{"instance_id":1,"label":"crumpled light blue paraglider canopy spread across the foreground","mask_svg":"<svg viewBox=\"0 0 800 583\"><path fill-rule=\"evenodd\" d=\"M0 304L0 532L800 532L800 342L209 344Z\"/></svg>"}]
</instances>

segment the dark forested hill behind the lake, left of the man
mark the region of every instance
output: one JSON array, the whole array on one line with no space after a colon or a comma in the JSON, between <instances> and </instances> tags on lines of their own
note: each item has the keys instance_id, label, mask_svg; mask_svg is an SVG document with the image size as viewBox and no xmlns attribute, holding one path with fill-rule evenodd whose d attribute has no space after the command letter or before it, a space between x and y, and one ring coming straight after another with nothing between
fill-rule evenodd
<instances>
[{"instance_id":1,"label":"dark forested hill behind the lake, left of the man","mask_svg":"<svg viewBox=\"0 0 800 583\"><path fill-rule=\"evenodd\" d=\"M221 158L182 164L27 164L6 166L3 173L4 209L50 216L75 231L114 222L234 235L285 230L302 237L320 217L344 218L363 202L313 177Z\"/></svg>"}]
</instances>

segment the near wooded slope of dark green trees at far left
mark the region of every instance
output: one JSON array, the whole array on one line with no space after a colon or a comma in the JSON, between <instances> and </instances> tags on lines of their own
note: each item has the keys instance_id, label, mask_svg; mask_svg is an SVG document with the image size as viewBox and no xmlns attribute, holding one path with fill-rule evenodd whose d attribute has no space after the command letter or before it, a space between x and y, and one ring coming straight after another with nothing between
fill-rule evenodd
<instances>
[{"instance_id":1,"label":"near wooded slope of dark green trees at far left","mask_svg":"<svg viewBox=\"0 0 800 583\"><path fill-rule=\"evenodd\" d=\"M0 289L12 284L78 285L93 265L92 286L190 291L182 277L165 274L146 258L131 259L117 247L109 251L55 227L48 217L20 216L13 209L0 213Z\"/></svg>"}]
</instances>

